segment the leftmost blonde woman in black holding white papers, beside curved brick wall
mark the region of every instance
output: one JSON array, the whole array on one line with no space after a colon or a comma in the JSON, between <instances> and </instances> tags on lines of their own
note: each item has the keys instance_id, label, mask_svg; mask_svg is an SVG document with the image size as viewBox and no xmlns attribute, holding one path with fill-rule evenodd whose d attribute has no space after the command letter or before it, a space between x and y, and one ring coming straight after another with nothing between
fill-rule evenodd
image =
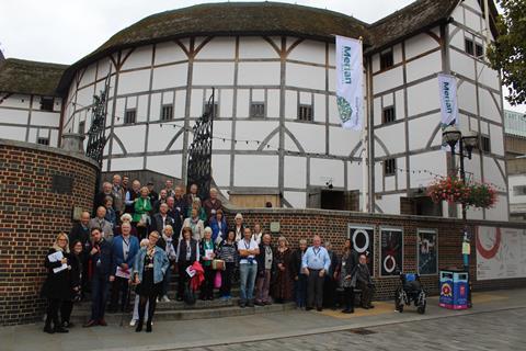
<instances>
[{"instance_id":1,"label":"leftmost blonde woman in black holding white papers, beside curved brick wall","mask_svg":"<svg viewBox=\"0 0 526 351\"><path fill-rule=\"evenodd\" d=\"M60 233L55 244L47 252L44 267L47 269L47 279L42 287L42 297L47 298L46 325L44 331L48 333L68 332L58 321L58 309L62 301L71 297L70 265L68 264L68 236ZM53 321L53 328L52 328Z\"/></svg>"}]
</instances>

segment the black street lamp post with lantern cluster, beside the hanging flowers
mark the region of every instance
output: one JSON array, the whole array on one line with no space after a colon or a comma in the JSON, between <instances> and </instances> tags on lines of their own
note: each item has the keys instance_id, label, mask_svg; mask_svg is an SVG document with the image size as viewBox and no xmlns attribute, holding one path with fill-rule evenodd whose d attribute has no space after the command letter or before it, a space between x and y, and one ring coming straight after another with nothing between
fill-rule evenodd
<instances>
[{"instance_id":1,"label":"black street lamp post with lantern cluster, beside the hanging flowers","mask_svg":"<svg viewBox=\"0 0 526 351\"><path fill-rule=\"evenodd\" d=\"M462 183L466 184L466 170L464 168L464 158L467 157L468 159L471 159L471 152L473 148L477 146L477 140L478 140L478 134L476 132L469 131L462 135L462 133L455 126L450 125L444 128L442 133L442 138L443 140L449 145L451 149L451 170L455 170L455 147L458 143L458 157L459 157L459 162L460 162L460 180ZM454 174L456 174L456 171L454 171ZM462 230L462 245L464 242L470 241L470 236L468 233L468 223L467 223L467 216L466 216L466 204L462 202L462 224L464 224L464 230ZM466 271L468 271L468 286L469 286L469 294L468 294L468 306L471 307L471 279L469 276L469 253L464 253L462 249L462 260L464 260L464 268Z\"/></svg>"}]
</instances>

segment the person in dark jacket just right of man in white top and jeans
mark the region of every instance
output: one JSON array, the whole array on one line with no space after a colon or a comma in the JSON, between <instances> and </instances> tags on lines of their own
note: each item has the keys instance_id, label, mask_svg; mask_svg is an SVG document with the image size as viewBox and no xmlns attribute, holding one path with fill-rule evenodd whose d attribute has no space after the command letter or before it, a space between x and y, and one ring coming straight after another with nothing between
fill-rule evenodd
<instances>
[{"instance_id":1,"label":"person in dark jacket just right of man in white top and jeans","mask_svg":"<svg viewBox=\"0 0 526 351\"><path fill-rule=\"evenodd\" d=\"M268 291L271 287L272 273L275 268L274 251L271 247L272 238L268 234L263 235L260 244L260 254L255 257L258 262L258 278L255 280L255 305L270 305Z\"/></svg>"}]
</instances>

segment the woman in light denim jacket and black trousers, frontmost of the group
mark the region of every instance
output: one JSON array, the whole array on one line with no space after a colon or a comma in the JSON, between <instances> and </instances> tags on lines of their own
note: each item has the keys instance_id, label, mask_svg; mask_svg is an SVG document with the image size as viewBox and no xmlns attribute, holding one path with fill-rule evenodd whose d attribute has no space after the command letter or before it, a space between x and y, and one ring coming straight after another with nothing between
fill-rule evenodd
<instances>
[{"instance_id":1,"label":"woman in light denim jacket and black trousers, frontmost of the group","mask_svg":"<svg viewBox=\"0 0 526 351\"><path fill-rule=\"evenodd\" d=\"M169 261L168 256L157 246L159 233L151 231L147 247L141 248L135 257L134 264L134 284L136 293L139 295L139 320L135 331L142 330L145 321L146 304L148 303L148 320L146 321L146 332L151 332L151 320L156 312L157 297L162 288L162 280L167 273Z\"/></svg>"}]
</instances>

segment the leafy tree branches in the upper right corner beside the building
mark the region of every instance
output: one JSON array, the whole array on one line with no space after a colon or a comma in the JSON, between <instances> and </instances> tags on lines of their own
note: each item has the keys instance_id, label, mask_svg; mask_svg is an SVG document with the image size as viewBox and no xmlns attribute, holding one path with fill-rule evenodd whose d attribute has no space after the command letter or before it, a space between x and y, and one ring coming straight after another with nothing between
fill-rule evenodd
<instances>
[{"instance_id":1,"label":"leafy tree branches in the upper right corner beside the building","mask_svg":"<svg viewBox=\"0 0 526 351\"><path fill-rule=\"evenodd\" d=\"M493 69L502 72L502 83L512 105L526 102L526 1L496 0L503 13L496 19L499 37L488 47Z\"/></svg>"}]
</instances>

